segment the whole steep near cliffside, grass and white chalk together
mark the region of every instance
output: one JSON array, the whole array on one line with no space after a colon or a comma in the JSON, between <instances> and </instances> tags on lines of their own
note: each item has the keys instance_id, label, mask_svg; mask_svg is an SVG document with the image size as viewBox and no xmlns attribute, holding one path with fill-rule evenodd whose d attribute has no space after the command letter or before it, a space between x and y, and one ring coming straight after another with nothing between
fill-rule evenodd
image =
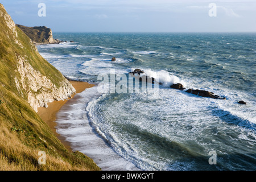
<instances>
[{"instance_id":1,"label":"whole steep near cliffside, grass and white chalk together","mask_svg":"<svg viewBox=\"0 0 256 182\"><path fill-rule=\"evenodd\" d=\"M100 169L81 152L69 152L36 113L74 92L0 4L0 170Z\"/></svg>"}]
</instances>

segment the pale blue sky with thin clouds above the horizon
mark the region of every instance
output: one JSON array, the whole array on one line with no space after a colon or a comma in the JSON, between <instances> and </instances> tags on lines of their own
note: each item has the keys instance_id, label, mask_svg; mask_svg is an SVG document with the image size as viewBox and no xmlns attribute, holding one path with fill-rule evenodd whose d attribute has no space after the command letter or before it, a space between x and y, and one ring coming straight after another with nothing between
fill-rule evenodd
<instances>
[{"instance_id":1,"label":"pale blue sky with thin clouds above the horizon","mask_svg":"<svg viewBox=\"0 0 256 182\"><path fill-rule=\"evenodd\" d=\"M0 0L14 22L53 32L256 32L256 0ZM41 11L39 3L46 5ZM214 3L213 6L209 6ZM46 13L46 16L39 16Z\"/></svg>"}]
</instances>

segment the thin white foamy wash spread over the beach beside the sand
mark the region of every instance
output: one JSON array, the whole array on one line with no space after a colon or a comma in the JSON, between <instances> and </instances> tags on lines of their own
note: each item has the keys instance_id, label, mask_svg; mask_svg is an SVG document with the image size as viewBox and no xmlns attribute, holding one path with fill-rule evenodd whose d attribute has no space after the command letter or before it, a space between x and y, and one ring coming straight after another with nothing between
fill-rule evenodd
<instances>
[{"instance_id":1,"label":"thin white foamy wash spread over the beach beside the sand","mask_svg":"<svg viewBox=\"0 0 256 182\"><path fill-rule=\"evenodd\" d=\"M85 106L99 96L97 86L94 86L69 100L57 113L57 133L71 142L73 151L88 155L102 170L139 170L134 164L117 155L90 126Z\"/></svg>"}]
</instances>

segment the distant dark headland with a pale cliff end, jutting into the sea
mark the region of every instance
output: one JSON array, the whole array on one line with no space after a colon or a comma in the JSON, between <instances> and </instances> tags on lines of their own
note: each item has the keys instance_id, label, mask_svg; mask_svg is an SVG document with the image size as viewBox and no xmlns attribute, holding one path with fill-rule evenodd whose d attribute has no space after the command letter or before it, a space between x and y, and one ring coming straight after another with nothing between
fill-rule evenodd
<instances>
[{"instance_id":1,"label":"distant dark headland with a pale cliff end, jutting into the sea","mask_svg":"<svg viewBox=\"0 0 256 182\"><path fill-rule=\"evenodd\" d=\"M51 28L46 26L26 27L16 24L35 44L57 44L60 40L53 39Z\"/></svg>"}]
</instances>

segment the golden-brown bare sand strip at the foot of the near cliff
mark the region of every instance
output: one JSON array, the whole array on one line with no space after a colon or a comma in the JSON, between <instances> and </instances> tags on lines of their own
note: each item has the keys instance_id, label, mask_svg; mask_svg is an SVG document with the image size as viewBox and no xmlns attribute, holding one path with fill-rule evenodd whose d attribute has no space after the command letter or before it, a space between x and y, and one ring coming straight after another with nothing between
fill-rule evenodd
<instances>
[{"instance_id":1,"label":"golden-brown bare sand strip at the foot of the near cliff","mask_svg":"<svg viewBox=\"0 0 256 182\"><path fill-rule=\"evenodd\" d=\"M76 93L64 101L53 101L48 103L48 107L38 107L38 114L40 118L50 127L56 137L63 143L64 147L67 148L68 151L72 152L71 144L65 140L65 137L62 137L60 134L56 132L55 126L57 123L55 122L57 117L56 114L59 112L61 107L63 107L69 100L74 98L76 94L83 92L85 89L92 88L95 86L94 84L89 84L84 81L71 81L72 86L76 89Z\"/></svg>"}]
</instances>

